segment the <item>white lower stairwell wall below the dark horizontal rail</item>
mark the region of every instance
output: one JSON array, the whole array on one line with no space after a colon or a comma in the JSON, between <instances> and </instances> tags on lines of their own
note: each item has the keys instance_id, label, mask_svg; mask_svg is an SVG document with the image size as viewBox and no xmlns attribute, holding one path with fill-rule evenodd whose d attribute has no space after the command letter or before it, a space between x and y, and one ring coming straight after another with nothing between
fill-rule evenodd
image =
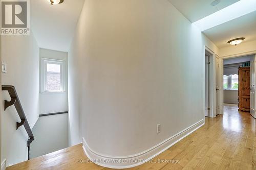
<instances>
[{"instance_id":1,"label":"white lower stairwell wall below the dark horizontal rail","mask_svg":"<svg viewBox=\"0 0 256 170\"><path fill-rule=\"evenodd\" d=\"M32 132L30 156L35 158L68 147L68 114L39 117Z\"/></svg>"}]
</instances>

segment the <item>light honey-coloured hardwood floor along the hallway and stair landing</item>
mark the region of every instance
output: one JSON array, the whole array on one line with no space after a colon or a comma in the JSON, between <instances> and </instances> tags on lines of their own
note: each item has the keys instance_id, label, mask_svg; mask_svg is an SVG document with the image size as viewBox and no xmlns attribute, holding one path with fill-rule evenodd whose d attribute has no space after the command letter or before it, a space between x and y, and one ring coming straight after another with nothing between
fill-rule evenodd
<instances>
[{"instance_id":1,"label":"light honey-coloured hardwood floor along the hallway and stair landing","mask_svg":"<svg viewBox=\"0 0 256 170\"><path fill-rule=\"evenodd\" d=\"M236 106L225 106L224 115L206 118L205 125L153 159L178 163L145 163L130 169L251 169L256 170L256 120ZM109 169L84 159L82 145L60 150L7 168Z\"/></svg>"}]
</instances>

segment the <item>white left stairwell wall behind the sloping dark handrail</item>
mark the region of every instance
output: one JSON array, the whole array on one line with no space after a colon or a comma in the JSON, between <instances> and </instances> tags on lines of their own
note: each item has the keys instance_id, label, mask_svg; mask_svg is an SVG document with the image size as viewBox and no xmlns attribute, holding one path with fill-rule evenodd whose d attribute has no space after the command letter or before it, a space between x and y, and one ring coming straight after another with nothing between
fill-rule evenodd
<instances>
[{"instance_id":1,"label":"white left stairwell wall behind the sloping dark handrail","mask_svg":"<svg viewBox=\"0 0 256 170\"><path fill-rule=\"evenodd\" d=\"M31 32L30 36L3 36L2 61L7 63L7 74L2 74L3 85L14 85L19 95L28 123L32 128L39 115L39 47ZM24 126L16 130L20 122L14 106L4 111L2 101L2 160L7 165L27 160L28 135Z\"/></svg>"}]
</instances>

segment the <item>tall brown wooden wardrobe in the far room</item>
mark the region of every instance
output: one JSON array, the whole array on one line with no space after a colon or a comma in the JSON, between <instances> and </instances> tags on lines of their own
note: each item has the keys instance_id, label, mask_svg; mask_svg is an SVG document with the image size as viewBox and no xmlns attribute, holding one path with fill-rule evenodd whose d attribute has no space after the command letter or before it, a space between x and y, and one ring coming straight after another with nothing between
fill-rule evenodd
<instances>
[{"instance_id":1,"label":"tall brown wooden wardrobe in the far room","mask_svg":"<svg viewBox=\"0 0 256 170\"><path fill-rule=\"evenodd\" d=\"M239 67L239 111L250 111L250 67ZM251 82L252 83L252 82Z\"/></svg>"}]
</instances>

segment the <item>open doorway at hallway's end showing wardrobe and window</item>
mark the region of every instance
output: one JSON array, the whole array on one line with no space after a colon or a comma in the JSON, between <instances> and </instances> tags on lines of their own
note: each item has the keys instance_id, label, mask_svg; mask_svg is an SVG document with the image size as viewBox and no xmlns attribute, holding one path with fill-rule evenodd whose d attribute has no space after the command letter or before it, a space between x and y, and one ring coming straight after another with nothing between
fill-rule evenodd
<instances>
[{"instance_id":1,"label":"open doorway at hallway's end showing wardrobe and window","mask_svg":"<svg viewBox=\"0 0 256 170\"><path fill-rule=\"evenodd\" d=\"M255 117L255 55L223 58L223 103Z\"/></svg>"}]
</instances>

